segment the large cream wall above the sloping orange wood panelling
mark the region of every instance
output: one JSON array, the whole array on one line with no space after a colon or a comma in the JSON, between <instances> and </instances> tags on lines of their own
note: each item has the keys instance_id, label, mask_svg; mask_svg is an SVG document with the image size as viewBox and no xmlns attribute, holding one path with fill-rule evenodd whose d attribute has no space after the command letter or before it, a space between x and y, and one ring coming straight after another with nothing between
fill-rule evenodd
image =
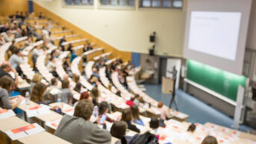
<instances>
[{"instance_id":1,"label":"large cream wall above the sloping orange wood panelling","mask_svg":"<svg viewBox=\"0 0 256 144\"><path fill-rule=\"evenodd\" d=\"M149 53L149 35L156 31L157 54L182 56L187 0L183 10L66 8L62 0L34 2L119 50Z\"/></svg>"}]
</instances>

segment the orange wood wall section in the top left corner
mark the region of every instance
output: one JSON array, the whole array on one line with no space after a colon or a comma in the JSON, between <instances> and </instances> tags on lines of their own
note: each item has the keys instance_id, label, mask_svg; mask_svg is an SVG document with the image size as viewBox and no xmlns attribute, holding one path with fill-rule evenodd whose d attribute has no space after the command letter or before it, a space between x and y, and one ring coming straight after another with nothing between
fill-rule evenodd
<instances>
[{"instance_id":1,"label":"orange wood wall section in the top left corner","mask_svg":"<svg viewBox=\"0 0 256 144\"><path fill-rule=\"evenodd\" d=\"M16 10L28 11L28 1L25 0L1 0L0 16L10 16L16 13Z\"/></svg>"}]
</instances>

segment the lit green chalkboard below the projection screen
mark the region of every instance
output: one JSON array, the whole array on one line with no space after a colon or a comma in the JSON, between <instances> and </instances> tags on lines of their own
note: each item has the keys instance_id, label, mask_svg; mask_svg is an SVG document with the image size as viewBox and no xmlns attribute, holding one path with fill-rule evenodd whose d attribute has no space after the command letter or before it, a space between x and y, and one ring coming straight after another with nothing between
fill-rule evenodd
<instances>
[{"instance_id":1,"label":"lit green chalkboard below the projection screen","mask_svg":"<svg viewBox=\"0 0 256 144\"><path fill-rule=\"evenodd\" d=\"M187 79L234 101L237 100L238 85L243 87L246 85L245 76L222 71L193 60L187 61Z\"/></svg>"}]
</instances>

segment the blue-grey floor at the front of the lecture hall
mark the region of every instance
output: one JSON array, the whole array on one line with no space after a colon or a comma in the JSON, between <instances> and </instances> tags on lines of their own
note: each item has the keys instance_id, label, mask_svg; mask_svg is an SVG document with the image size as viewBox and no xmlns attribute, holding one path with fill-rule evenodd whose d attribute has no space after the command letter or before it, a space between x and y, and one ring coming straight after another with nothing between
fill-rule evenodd
<instances>
[{"instance_id":1,"label":"blue-grey floor at the front of the lecture hall","mask_svg":"<svg viewBox=\"0 0 256 144\"><path fill-rule=\"evenodd\" d=\"M146 84L146 94L152 96L157 101L163 102L164 105L169 105L171 95L162 94L161 85ZM220 111L206 105L204 102L196 99L196 97L185 93L182 90L176 92L176 102L178 104L178 111L185 114L189 114L188 122L199 122L204 124L205 122L213 122L217 125L223 125L231 128L233 119L222 114ZM172 108L175 108L172 106ZM240 125L240 131L249 131L249 126Z\"/></svg>"}]
</instances>

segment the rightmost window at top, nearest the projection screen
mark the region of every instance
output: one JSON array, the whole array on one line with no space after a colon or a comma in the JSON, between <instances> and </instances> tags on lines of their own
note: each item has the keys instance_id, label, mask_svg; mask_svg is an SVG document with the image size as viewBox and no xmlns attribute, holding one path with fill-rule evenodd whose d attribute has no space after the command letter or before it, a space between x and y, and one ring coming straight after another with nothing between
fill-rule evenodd
<instances>
[{"instance_id":1,"label":"rightmost window at top, nearest the projection screen","mask_svg":"<svg viewBox=\"0 0 256 144\"><path fill-rule=\"evenodd\" d=\"M140 0L140 7L182 8L183 0Z\"/></svg>"}]
</instances>

